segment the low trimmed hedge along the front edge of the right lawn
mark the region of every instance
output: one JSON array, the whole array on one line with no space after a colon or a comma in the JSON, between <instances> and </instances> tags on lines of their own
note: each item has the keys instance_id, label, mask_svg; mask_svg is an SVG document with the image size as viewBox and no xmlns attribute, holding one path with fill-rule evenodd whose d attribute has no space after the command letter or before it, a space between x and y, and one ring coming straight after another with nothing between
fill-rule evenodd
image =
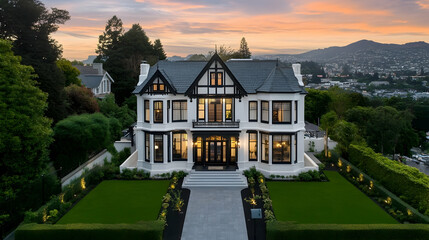
<instances>
[{"instance_id":1,"label":"low trimmed hedge along the front edge of the right lawn","mask_svg":"<svg viewBox=\"0 0 429 240\"><path fill-rule=\"evenodd\" d=\"M427 224L292 224L267 223L267 240L344 239L414 240L429 239Z\"/></svg>"}]
</instances>

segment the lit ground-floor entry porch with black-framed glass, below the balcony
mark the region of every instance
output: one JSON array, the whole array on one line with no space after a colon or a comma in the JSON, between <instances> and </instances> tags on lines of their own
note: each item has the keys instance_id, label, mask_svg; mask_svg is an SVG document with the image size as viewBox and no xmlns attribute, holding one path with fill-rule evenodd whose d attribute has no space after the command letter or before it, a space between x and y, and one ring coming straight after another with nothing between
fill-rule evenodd
<instances>
[{"instance_id":1,"label":"lit ground-floor entry porch with black-framed glass, below the balcony","mask_svg":"<svg viewBox=\"0 0 429 240\"><path fill-rule=\"evenodd\" d=\"M194 167L237 166L239 132L192 132ZM225 168L226 167L226 168ZM221 170L219 168L219 170Z\"/></svg>"}]
</instances>

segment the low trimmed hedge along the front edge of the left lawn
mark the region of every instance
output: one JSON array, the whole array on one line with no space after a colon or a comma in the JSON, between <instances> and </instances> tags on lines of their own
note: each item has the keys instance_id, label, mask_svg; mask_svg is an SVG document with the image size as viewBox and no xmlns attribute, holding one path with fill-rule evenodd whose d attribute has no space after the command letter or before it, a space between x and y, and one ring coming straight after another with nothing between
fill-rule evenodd
<instances>
[{"instance_id":1,"label":"low trimmed hedge along the front edge of the left lawn","mask_svg":"<svg viewBox=\"0 0 429 240\"><path fill-rule=\"evenodd\" d=\"M162 239L161 221L138 224L24 224L15 232L16 240L141 240Z\"/></svg>"}]
</instances>

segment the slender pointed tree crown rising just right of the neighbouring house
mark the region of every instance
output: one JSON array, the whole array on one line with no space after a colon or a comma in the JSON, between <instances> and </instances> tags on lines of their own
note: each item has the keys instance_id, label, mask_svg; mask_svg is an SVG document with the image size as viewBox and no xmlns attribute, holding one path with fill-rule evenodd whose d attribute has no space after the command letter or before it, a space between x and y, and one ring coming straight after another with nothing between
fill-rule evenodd
<instances>
[{"instance_id":1,"label":"slender pointed tree crown rising just right of the neighbouring house","mask_svg":"<svg viewBox=\"0 0 429 240\"><path fill-rule=\"evenodd\" d=\"M124 32L122 20L116 17L116 15L107 21L103 34L98 37L97 50L95 50L99 55L99 60L105 59L106 56L110 55L110 51L117 47L119 39Z\"/></svg>"}]
</instances>

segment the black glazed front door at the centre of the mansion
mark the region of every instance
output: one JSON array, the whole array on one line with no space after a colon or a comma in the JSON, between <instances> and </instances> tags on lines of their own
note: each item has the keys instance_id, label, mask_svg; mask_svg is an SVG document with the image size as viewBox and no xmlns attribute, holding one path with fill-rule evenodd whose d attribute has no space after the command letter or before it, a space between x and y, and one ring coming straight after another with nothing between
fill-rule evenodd
<instances>
[{"instance_id":1,"label":"black glazed front door at the centre of the mansion","mask_svg":"<svg viewBox=\"0 0 429 240\"><path fill-rule=\"evenodd\" d=\"M226 139L217 137L206 141L206 164L226 163Z\"/></svg>"}]
</instances>

